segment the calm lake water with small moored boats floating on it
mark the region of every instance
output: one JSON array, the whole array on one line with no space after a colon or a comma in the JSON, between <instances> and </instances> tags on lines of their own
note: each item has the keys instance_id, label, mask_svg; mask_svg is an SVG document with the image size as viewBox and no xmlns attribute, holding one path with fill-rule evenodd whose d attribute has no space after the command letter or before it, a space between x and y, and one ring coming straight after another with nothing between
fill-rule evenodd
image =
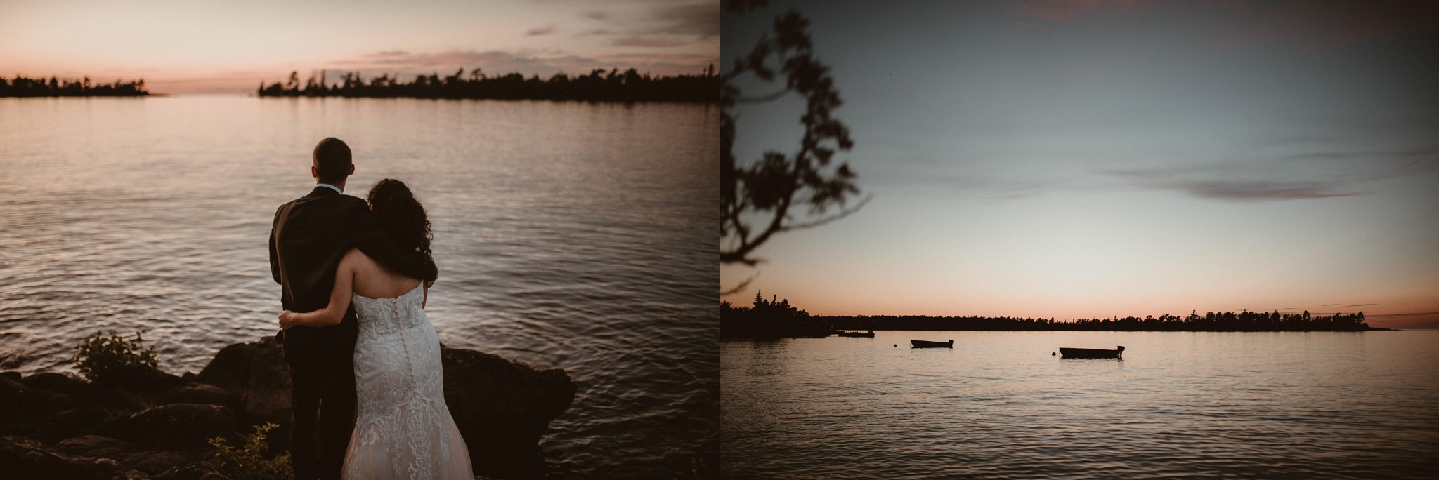
<instances>
[{"instance_id":1,"label":"calm lake water with small moored boats floating on it","mask_svg":"<svg viewBox=\"0 0 1439 480\"><path fill-rule=\"evenodd\" d=\"M1439 473L1436 331L876 333L722 342L724 477Z\"/></svg>"}]
</instances>

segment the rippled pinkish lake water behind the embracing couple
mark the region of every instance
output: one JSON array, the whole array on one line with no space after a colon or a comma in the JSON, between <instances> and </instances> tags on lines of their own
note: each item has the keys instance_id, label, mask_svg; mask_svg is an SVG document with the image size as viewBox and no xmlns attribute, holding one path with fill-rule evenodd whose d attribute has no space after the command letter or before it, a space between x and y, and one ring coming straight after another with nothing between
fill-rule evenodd
<instances>
[{"instance_id":1,"label":"rippled pinkish lake water behind the embracing couple","mask_svg":"<svg viewBox=\"0 0 1439 480\"><path fill-rule=\"evenodd\" d=\"M704 105L0 99L0 369L73 372L104 329L176 374L273 336L271 220L338 137L347 194L394 177L429 210L440 341L577 384L558 471L688 474L720 443L718 129Z\"/></svg>"}]
</instances>

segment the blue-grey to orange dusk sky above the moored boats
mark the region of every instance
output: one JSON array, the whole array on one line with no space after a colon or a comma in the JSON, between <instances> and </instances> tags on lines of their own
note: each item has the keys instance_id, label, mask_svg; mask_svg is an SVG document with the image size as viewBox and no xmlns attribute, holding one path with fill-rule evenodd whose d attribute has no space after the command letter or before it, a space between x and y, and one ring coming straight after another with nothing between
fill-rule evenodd
<instances>
[{"instance_id":1,"label":"blue-grey to orange dusk sky above the moored boats","mask_svg":"<svg viewBox=\"0 0 1439 480\"><path fill-rule=\"evenodd\" d=\"M789 9L873 200L724 266L727 300L1439 328L1433 3L777 1L724 14L724 62ZM743 108L738 161L796 151L802 105Z\"/></svg>"}]
</instances>

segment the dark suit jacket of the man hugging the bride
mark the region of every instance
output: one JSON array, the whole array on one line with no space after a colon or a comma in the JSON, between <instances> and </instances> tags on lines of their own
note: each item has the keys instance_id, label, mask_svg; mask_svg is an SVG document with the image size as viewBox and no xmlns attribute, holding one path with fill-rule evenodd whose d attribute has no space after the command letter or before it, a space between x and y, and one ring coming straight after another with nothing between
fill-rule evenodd
<instances>
[{"instance_id":1,"label":"dark suit jacket of the man hugging the bride","mask_svg":"<svg viewBox=\"0 0 1439 480\"><path fill-rule=\"evenodd\" d=\"M317 185L308 195L275 211L271 230L271 273L282 286L281 303L291 312L312 312L330 305L335 269L350 249L360 249L380 264L409 277L435 280L439 270L427 256L406 250L384 236L364 200ZM285 331L285 359L295 362L319 355L354 352L358 323L354 309L337 326L295 326Z\"/></svg>"}]
</instances>

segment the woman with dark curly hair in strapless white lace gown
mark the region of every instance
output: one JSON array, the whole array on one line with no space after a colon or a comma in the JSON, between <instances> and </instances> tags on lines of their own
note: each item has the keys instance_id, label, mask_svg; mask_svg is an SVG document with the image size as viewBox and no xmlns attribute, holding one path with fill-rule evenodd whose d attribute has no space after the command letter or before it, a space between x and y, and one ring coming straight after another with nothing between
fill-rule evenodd
<instances>
[{"instance_id":1,"label":"woman with dark curly hair in strapless white lace gown","mask_svg":"<svg viewBox=\"0 0 1439 480\"><path fill-rule=\"evenodd\" d=\"M409 187L386 178L366 201L390 240L430 253L430 221ZM423 310L427 299L425 282L351 249L335 270L330 306L279 315L282 329L337 325L351 306L360 319L358 418L344 479L473 479L465 438L445 405L440 343Z\"/></svg>"}]
</instances>

